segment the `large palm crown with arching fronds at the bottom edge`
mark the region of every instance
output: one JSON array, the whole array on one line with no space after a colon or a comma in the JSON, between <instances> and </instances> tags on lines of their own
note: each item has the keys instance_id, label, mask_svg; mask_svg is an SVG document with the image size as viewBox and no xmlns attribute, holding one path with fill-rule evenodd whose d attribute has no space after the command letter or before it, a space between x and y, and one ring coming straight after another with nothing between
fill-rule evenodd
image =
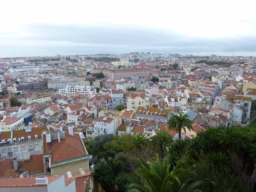
<instances>
[{"instance_id":1,"label":"large palm crown with arching fronds at the bottom edge","mask_svg":"<svg viewBox=\"0 0 256 192\"><path fill-rule=\"evenodd\" d=\"M139 170L137 175L128 176L128 192L188 192L198 191L202 181L193 182L190 178L194 175L191 170L182 168L180 161L176 167L171 170L169 164L165 164L158 157L156 162L144 163L139 161Z\"/></svg>"}]
</instances>

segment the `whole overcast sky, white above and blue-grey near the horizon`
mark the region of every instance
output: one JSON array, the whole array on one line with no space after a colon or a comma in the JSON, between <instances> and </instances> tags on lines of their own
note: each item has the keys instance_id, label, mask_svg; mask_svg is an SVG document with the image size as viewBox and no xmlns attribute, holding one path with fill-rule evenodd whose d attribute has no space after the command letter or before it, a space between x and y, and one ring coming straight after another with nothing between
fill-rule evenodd
<instances>
[{"instance_id":1,"label":"whole overcast sky, white above and blue-grey near the horizon","mask_svg":"<svg viewBox=\"0 0 256 192\"><path fill-rule=\"evenodd\" d=\"M3 1L0 57L125 52L256 56L255 0Z\"/></svg>"}]
</instances>

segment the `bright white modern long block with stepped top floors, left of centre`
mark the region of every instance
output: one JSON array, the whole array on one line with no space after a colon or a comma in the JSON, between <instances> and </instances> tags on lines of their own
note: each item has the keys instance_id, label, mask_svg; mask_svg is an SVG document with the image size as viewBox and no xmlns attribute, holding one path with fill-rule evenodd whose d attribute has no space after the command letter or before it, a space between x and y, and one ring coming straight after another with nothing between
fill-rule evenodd
<instances>
[{"instance_id":1,"label":"bright white modern long block with stepped top floors, left of centre","mask_svg":"<svg viewBox=\"0 0 256 192\"><path fill-rule=\"evenodd\" d=\"M76 94L93 95L96 94L96 89L93 86L67 86L65 89L60 89L59 93L67 97Z\"/></svg>"}]
</instances>

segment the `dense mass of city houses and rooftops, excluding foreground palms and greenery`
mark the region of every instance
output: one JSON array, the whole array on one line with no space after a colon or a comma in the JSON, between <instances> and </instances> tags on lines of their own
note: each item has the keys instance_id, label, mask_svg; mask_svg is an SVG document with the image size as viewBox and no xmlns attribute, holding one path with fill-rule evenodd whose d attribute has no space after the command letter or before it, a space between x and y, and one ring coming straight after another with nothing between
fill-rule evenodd
<instances>
[{"instance_id":1,"label":"dense mass of city houses and rooftops, excluding foreground palms and greenery","mask_svg":"<svg viewBox=\"0 0 256 192\"><path fill-rule=\"evenodd\" d=\"M0 58L0 178L8 177L1 179L0 188L7 183L4 189L19 191L12 177L20 172L24 178L17 183L28 180L24 191L40 182L48 191L58 182L62 191L77 191L77 187L84 191L84 182L92 182L91 154L84 138L106 134L151 138L165 130L176 140L178 133L169 130L168 120L179 113L194 122L193 130L181 132L182 139L193 139L208 127L246 127L255 118L253 57L209 59L232 62L230 68L180 54L116 57L121 62L57 56L58 61L36 66L31 58ZM126 62L134 58L140 61ZM118 111L120 104L124 109Z\"/></svg>"}]
</instances>

